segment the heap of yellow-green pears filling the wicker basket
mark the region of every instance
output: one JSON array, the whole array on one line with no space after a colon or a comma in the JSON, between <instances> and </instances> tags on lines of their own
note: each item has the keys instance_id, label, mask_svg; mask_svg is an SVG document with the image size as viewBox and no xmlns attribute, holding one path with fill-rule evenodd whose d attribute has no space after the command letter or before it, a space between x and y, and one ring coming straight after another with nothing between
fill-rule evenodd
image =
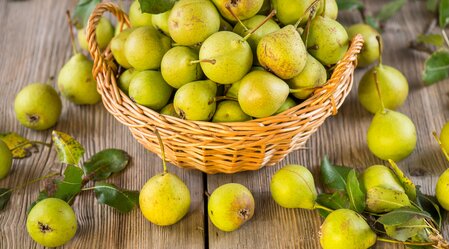
<instances>
[{"instance_id":1,"label":"heap of yellow-green pears filling the wicker basket","mask_svg":"<svg viewBox=\"0 0 449 249\"><path fill-rule=\"evenodd\" d=\"M134 1L109 44L118 86L186 120L266 118L326 83L348 49L337 14L335 0L180 0L161 14Z\"/></svg>"}]
</instances>

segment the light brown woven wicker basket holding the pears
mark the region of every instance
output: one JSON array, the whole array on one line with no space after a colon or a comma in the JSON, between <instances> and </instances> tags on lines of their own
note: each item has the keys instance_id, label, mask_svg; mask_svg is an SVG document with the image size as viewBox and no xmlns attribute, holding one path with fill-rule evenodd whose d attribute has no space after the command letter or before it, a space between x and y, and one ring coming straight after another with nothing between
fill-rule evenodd
<instances>
[{"instance_id":1,"label":"light brown woven wicker basket holding the pears","mask_svg":"<svg viewBox=\"0 0 449 249\"><path fill-rule=\"evenodd\" d=\"M188 121L138 105L117 87L117 65L110 49L100 51L95 38L96 25L106 11L115 15L118 23L129 25L126 14L113 3L97 5L89 19L87 37L94 59L93 75L104 106L148 150L161 156L154 134L157 128L168 162L208 174L257 170L303 147L324 120L337 113L350 92L357 54L363 46L362 37L356 36L325 86L287 111L246 122Z\"/></svg>"}]
</instances>

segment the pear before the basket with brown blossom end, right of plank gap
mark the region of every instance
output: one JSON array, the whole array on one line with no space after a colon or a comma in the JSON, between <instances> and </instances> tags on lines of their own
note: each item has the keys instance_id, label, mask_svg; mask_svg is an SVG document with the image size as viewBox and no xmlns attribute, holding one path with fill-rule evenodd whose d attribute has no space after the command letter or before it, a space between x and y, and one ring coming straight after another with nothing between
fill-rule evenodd
<instances>
[{"instance_id":1,"label":"pear before the basket with brown blossom end, right of plank gap","mask_svg":"<svg viewBox=\"0 0 449 249\"><path fill-rule=\"evenodd\" d=\"M207 213L218 229L231 232L253 217L254 208L254 197L245 186L228 183L212 192L207 204Z\"/></svg>"}]
</instances>

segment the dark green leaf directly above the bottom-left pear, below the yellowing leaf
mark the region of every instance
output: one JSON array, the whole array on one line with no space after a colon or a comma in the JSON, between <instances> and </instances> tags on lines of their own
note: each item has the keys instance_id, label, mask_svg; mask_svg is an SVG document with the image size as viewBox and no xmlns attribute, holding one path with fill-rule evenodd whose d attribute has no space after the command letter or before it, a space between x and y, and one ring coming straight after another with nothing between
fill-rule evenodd
<instances>
[{"instance_id":1,"label":"dark green leaf directly above the bottom-left pear, below the yellowing leaf","mask_svg":"<svg viewBox=\"0 0 449 249\"><path fill-rule=\"evenodd\" d=\"M59 198L71 203L73 197L81 192L81 185L83 182L83 170L73 166L68 165L64 171L63 180L55 180L56 192L52 197Z\"/></svg>"}]
</instances>

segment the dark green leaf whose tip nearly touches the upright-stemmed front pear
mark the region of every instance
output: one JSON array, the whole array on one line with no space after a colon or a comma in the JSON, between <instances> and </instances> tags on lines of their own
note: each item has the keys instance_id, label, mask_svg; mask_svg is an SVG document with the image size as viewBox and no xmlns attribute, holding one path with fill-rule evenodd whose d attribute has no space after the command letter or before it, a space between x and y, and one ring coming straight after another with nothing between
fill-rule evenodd
<instances>
[{"instance_id":1,"label":"dark green leaf whose tip nearly touches the upright-stemmed front pear","mask_svg":"<svg viewBox=\"0 0 449 249\"><path fill-rule=\"evenodd\" d=\"M99 203L123 213L131 211L139 203L139 191L123 190L113 184L96 183L94 191Z\"/></svg>"}]
</instances>

